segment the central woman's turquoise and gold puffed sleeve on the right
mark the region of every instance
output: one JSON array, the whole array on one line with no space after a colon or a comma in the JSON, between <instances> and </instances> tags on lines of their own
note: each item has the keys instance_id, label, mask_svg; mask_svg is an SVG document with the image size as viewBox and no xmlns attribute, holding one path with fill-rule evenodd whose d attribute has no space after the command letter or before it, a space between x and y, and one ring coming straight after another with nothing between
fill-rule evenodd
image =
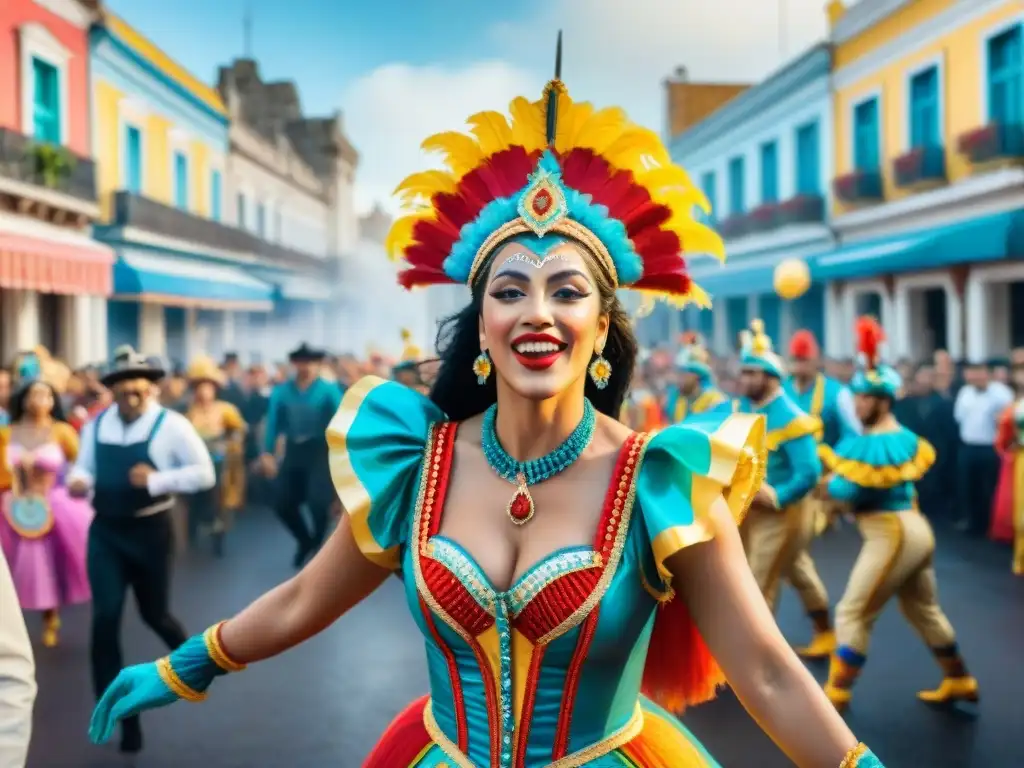
<instances>
[{"instance_id":1,"label":"central woman's turquoise and gold puffed sleeve on the right","mask_svg":"<svg viewBox=\"0 0 1024 768\"><path fill-rule=\"evenodd\" d=\"M657 573L679 550L714 538L712 505L724 498L738 524L764 479L765 420L701 414L650 438L637 473L637 501Z\"/></svg>"}]
</instances>

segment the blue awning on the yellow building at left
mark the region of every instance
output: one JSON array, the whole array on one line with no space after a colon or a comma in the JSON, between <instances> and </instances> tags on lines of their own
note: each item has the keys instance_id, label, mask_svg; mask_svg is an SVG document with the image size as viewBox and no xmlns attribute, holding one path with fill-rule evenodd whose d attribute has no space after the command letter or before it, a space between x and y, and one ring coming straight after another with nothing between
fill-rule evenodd
<instances>
[{"instance_id":1,"label":"blue awning on the yellow building at left","mask_svg":"<svg viewBox=\"0 0 1024 768\"><path fill-rule=\"evenodd\" d=\"M165 306L270 311L273 287L242 267L122 250L114 265L114 298Z\"/></svg>"}]
</instances>

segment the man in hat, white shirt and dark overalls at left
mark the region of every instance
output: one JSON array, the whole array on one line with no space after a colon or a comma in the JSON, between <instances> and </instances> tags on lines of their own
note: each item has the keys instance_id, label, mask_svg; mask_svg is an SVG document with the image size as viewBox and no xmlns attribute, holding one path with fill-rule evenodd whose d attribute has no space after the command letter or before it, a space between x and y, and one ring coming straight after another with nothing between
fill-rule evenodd
<instances>
[{"instance_id":1,"label":"man in hat, white shirt and dark overalls at left","mask_svg":"<svg viewBox=\"0 0 1024 768\"><path fill-rule=\"evenodd\" d=\"M119 347L102 384L114 406L82 430L82 450L69 475L71 493L92 493L89 528L92 585L92 682L99 696L122 667L121 614L131 588L141 620L168 648L187 635L170 611L173 561L171 508L179 494L216 482L203 438L185 417L160 406L164 371L129 346ZM122 725L121 750L142 749L138 718Z\"/></svg>"}]
</instances>

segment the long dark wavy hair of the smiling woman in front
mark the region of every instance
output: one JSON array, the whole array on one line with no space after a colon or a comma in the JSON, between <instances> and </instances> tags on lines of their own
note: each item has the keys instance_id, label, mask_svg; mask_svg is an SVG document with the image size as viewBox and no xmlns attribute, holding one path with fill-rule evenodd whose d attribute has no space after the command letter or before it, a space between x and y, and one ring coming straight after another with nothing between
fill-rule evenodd
<instances>
[{"instance_id":1,"label":"long dark wavy hair of the smiling woman in front","mask_svg":"<svg viewBox=\"0 0 1024 768\"><path fill-rule=\"evenodd\" d=\"M598 389L587 376L585 392L595 409L617 419L633 381L637 340L629 314L615 294L611 276L597 259L588 257L588 262L601 298L601 311L608 313L608 339L603 354L611 365L611 379L608 386ZM453 421L464 421L482 414L498 399L496 376L493 374L481 385L473 373L473 360L480 354L480 311L489 271L488 260L477 270L479 276L473 284L470 303L443 319L437 332L436 348L441 365L430 389L430 399Z\"/></svg>"}]
</instances>

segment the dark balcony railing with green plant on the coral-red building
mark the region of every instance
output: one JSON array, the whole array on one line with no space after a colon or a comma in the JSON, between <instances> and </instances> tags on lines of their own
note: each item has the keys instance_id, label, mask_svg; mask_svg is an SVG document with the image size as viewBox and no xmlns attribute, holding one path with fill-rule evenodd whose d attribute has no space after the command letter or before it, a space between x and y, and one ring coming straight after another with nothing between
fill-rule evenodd
<instances>
[{"instance_id":1,"label":"dark balcony railing with green plant on the coral-red building","mask_svg":"<svg viewBox=\"0 0 1024 768\"><path fill-rule=\"evenodd\" d=\"M96 166L67 147L0 128L0 176L95 203Z\"/></svg>"}]
</instances>

